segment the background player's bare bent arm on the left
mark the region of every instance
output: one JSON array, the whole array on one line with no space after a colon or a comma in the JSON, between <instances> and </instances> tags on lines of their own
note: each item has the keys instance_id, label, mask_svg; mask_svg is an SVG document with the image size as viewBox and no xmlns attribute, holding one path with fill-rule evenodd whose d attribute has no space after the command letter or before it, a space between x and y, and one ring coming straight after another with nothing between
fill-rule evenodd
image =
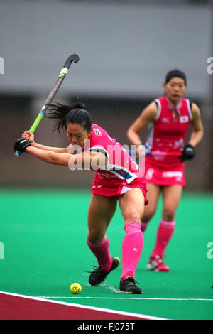
<instances>
[{"instance_id":1,"label":"background player's bare bent arm on the left","mask_svg":"<svg viewBox=\"0 0 213 334\"><path fill-rule=\"evenodd\" d=\"M142 141L139 136L139 133L142 129L146 128L146 126L150 123L155 121L158 114L158 107L155 102L151 102L148 106L143 109L141 115L136 119L135 122L130 126L129 130L127 131L127 136L129 141L131 141L134 145L141 145Z\"/></svg>"}]
</instances>

